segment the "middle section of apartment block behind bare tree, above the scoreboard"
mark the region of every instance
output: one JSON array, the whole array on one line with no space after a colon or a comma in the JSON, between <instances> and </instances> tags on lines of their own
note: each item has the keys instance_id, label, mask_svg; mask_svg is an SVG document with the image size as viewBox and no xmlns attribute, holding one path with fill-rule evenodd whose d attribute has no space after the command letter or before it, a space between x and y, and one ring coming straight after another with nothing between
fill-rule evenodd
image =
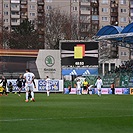
<instances>
[{"instance_id":1,"label":"middle section of apartment block behind bare tree, above the scoreboard","mask_svg":"<svg viewBox=\"0 0 133 133\"><path fill-rule=\"evenodd\" d=\"M60 9L77 20L80 39L92 37L99 29L98 0L46 0L45 13Z\"/></svg>"}]
</instances>

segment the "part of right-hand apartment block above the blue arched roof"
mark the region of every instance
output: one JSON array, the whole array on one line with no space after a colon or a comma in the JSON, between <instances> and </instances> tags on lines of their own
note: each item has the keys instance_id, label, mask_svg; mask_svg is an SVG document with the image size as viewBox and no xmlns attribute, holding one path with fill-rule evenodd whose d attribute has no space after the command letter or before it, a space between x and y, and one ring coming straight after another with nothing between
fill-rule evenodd
<instances>
[{"instance_id":1,"label":"part of right-hand apartment block above the blue arched roof","mask_svg":"<svg viewBox=\"0 0 133 133\"><path fill-rule=\"evenodd\" d=\"M129 24L130 0L99 0L99 26L115 25L125 27Z\"/></svg>"}]
</instances>

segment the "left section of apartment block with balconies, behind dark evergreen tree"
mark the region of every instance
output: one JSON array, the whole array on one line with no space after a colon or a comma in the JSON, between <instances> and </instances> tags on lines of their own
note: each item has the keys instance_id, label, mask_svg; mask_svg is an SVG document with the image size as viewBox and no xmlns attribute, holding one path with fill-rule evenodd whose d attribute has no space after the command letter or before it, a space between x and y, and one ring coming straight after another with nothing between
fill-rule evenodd
<instances>
[{"instance_id":1,"label":"left section of apartment block with balconies, behind dark evergreen tree","mask_svg":"<svg viewBox=\"0 0 133 133\"><path fill-rule=\"evenodd\" d=\"M2 0L3 27L13 31L28 19L39 33L39 43L44 46L44 0ZM40 31L41 30L41 31Z\"/></svg>"}]
</instances>

